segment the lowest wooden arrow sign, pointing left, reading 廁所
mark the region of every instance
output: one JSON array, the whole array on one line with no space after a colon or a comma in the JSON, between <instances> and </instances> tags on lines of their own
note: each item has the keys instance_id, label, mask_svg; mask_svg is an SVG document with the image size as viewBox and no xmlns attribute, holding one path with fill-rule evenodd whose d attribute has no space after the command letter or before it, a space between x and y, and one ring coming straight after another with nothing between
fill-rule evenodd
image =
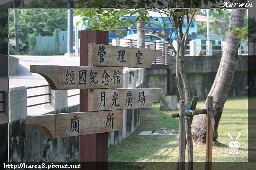
<instances>
[{"instance_id":1,"label":"lowest wooden arrow sign, pointing left, reading \u5ec1\u6240","mask_svg":"<svg viewBox=\"0 0 256 170\"><path fill-rule=\"evenodd\" d=\"M27 116L49 139L123 130L123 110Z\"/></svg>"}]
</instances>

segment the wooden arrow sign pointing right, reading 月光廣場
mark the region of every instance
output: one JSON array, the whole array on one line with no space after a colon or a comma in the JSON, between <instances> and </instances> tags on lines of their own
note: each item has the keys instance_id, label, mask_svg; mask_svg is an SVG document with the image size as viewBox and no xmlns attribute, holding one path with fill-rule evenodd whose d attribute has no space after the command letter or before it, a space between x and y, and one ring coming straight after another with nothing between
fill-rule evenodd
<instances>
[{"instance_id":1,"label":"wooden arrow sign pointing right, reading \u6708\u5149\u5ee3\u5834","mask_svg":"<svg viewBox=\"0 0 256 170\"><path fill-rule=\"evenodd\" d=\"M150 108L154 99L163 93L155 88L116 88L88 90L88 110L119 110Z\"/></svg>"}]
</instances>

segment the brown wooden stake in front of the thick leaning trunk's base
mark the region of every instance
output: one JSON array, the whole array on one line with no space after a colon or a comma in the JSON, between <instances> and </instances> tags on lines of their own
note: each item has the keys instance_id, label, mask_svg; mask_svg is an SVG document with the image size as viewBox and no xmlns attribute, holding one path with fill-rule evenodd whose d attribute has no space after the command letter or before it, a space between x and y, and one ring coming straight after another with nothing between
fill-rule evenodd
<instances>
[{"instance_id":1,"label":"brown wooden stake in front of the thick leaning trunk's base","mask_svg":"<svg viewBox=\"0 0 256 170\"><path fill-rule=\"evenodd\" d=\"M211 110L213 110L213 97L207 96L207 112L206 112L206 170L212 169L213 155L213 126L211 123Z\"/></svg>"}]
</instances>

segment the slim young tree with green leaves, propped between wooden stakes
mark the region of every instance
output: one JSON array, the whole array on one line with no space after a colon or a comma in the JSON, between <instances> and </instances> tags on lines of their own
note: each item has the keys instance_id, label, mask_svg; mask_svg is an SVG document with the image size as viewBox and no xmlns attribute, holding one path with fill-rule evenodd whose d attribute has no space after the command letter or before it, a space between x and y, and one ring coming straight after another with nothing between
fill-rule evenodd
<instances>
[{"instance_id":1,"label":"slim young tree with green leaves, propped between wooden stakes","mask_svg":"<svg viewBox=\"0 0 256 170\"><path fill-rule=\"evenodd\" d=\"M187 0L180 0L179 2L173 3L168 0L145 0L145 6L149 6L154 8L154 3L161 6L160 9L126 9L122 8L120 10L108 9L106 7L117 6L122 7L122 5L128 5L135 7L136 3L130 0L124 0L123 3L117 3L116 1L110 0L111 4L102 4L101 0L96 0L92 3L91 0L77 0L74 5L80 4L79 7L86 6L87 8L95 8L95 7L104 7L105 9L77 9L74 15L81 15L83 18L82 20L91 20L90 24L87 26L93 30L108 30L111 33L116 33L118 31L127 31L127 30L137 30L137 31L150 31L152 33L157 33L164 37L164 39L170 44L171 48L173 49L174 58L176 59L176 85L179 91L179 96L181 100L185 100L185 106L190 107L191 98L190 98L190 89L188 85L188 78L185 73L184 67L184 60L185 60L185 49L188 43L188 30L193 21L196 8L188 9L190 7L198 7L201 5L201 1L187 1ZM213 0L210 0L212 3L216 3ZM204 3L208 3L207 0L204 0ZM105 5L105 6L104 6ZM167 32L166 25L163 23L157 24L157 18L151 17L149 12L157 12L162 17L167 16L170 23L173 26L173 29L170 33ZM136 15L136 20L134 21L137 24L145 23L148 25L154 25L160 27L161 31L154 30L153 27L150 29L140 28L137 29L130 29L129 26L134 24L132 21L127 20L126 18L122 18L123 16L133 16ZM153 21L152 21L153 20ZM185 31L182 29L183 22L186 20L187 27ZM139 21L139 22L138 22ZM142 21L142 22L141 22ZM79 22L77 23L79 24ZM123 27L123 28L120 28ZM172 34L176 36L177 46L174 48L173 43L171 42ZM125 34L120 32L121 36ZM182 93L182 88L180 85L179 77L181 77L183 89L185 92ZM187 134L187 141L188 141L188 161L193 162L193 144L191 139L191 121L187 119L185 121L186 124L186 134ZM191 164L190 164L190 167Z\"/></svg>"}]
</instances>

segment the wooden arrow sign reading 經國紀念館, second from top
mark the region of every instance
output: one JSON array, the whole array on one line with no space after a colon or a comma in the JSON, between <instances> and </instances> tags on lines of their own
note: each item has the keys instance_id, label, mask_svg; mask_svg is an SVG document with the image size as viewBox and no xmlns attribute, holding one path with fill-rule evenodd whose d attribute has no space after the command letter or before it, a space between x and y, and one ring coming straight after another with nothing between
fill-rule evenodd
<instances>
[{"instance_id":1,"label":"wooden arrow sign reading \u7d93\u570b\u7d00\u5ff5\u9928, second from top","mask_svg":"<svg viewBox=\"0 0 256 170\"><path fill-rule=\"evenodd\" d=\"M30 72L43 76L53 90L123 87L120 67L31 65Z\"/></svg>"}]
</instances>

